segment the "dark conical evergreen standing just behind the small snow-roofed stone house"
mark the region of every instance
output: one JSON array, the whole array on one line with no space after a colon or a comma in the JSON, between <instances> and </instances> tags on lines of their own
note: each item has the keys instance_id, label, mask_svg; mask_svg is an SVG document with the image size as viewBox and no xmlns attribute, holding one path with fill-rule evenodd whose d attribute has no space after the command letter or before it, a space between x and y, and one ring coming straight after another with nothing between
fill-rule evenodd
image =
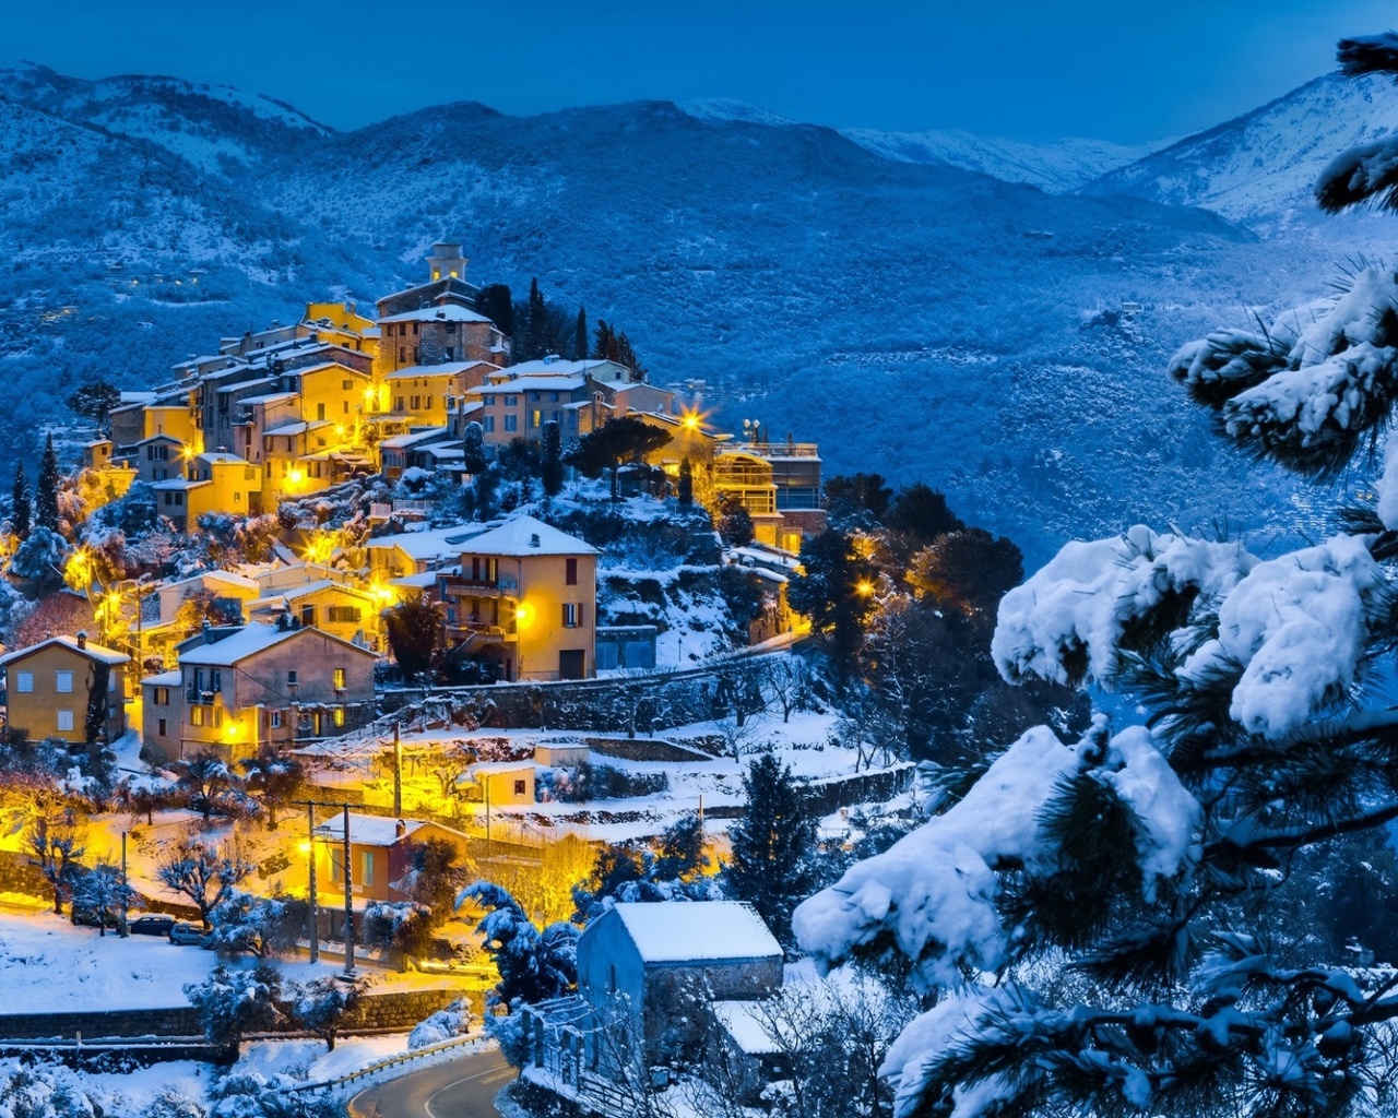
<instances>
[{"instance_id":1,"label":"dark conical evergreen standing just behind the small snow-roofed stone house","mask_svg":"<svg viewBox=\"0 0 1398 1118\"><path fill-rule=\"evenodd\" d=\"M809 855L815 816L805 806L791 769L774 753L756 757L742 777L748 806L728 827L733 861L724 887L758 910L772 934L791 942L791 910L812 885Z\"/></svg>"}]
</instances>

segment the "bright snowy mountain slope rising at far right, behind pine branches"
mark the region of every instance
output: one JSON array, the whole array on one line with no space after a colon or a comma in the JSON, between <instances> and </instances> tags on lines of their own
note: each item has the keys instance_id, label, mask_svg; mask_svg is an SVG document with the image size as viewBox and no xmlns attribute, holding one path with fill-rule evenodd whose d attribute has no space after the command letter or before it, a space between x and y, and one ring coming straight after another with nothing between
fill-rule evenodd
<instances>
[{"instance_id":1,"label":"bright snowy mountain slope rising at far right, behind pine branches","mask_svg":"<svg viewBox=\"0 0 1398 1118\"><path fill-rule=\"evenodd\" d=\"M1286 96L1113 170L1088 186L1202 205L1262 229L1329 221L1311 189L1341 151L1398 129L1398 85L1328 74Z\"/></svg>"}]
</instances>

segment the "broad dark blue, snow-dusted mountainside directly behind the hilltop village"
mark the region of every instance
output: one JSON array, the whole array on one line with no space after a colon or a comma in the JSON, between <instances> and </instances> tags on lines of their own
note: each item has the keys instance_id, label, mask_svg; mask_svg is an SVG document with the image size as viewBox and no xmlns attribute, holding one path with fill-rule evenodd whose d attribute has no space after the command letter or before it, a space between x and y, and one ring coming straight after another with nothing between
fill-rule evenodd
<instances>
[{"instance_id":1,"label":"broad dark blue, snow-dusted mountainside directly behind the hilltop village","mask_svg":"<svg viewBox=\"0 0 1398 1118\"><path fill-rule=\"evenodd\" d=\"M1314 239L665 102L463 103L341 134L165 78L0 82L11 454L84 377L150 384L309 299L418 280L460 238L473 280L537 275L625 328L657 380L705 380L730 429L756 418L819 442L830 472L925 479L1032 556L1138 517L1306 516L1283 479L1257 514L1257 472L1163 368L1244 305L1314 296L1332 259Z\"/></svg>"}]
</instances>

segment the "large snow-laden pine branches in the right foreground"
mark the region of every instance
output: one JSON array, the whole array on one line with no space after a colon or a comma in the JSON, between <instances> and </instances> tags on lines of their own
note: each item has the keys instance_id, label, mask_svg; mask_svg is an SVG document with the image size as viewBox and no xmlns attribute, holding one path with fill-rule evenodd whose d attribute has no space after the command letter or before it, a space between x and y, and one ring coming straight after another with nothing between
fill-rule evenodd
<instances>
[{"instance_id":1,"label":"large snow-laden pine branches in the right foreground","mask_svg":"<svg viewBox=\"0 0 1398 1118\"><path fill-rule=\"evenodd\" d=\"M1398 75L1398 35L1346 41L1341 63ZM1341 155L1321 205L1398 208L1395 157ZM1376 500L1269 559L1144 525L1067 544L1001 600L995 664L1124 692L1117 717L1144 724L1099 714L1072 743L1036 727L942 774L931 819L797 908L819 966L900 959L935 996L882 1069L900 1112L1392 1112L1391 971L1324 934L1345 875L1307 890L1304 920L1279 899L1327 844L1383 845L1398 819L1395 306L1398 277L1360 266L1169 368L1223 437L1307 479L1381 447Z\"/></svg>"}]
</instances>

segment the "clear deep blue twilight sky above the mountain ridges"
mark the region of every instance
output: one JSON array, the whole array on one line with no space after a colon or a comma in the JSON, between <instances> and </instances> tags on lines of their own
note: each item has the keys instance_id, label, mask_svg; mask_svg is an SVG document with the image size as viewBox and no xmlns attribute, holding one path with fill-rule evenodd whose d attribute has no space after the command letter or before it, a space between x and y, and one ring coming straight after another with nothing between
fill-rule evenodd
<instances>
[{"instance_id":1,"label":"clear deep blue twilight sky above the mountain ridges","mask_svg":"<svg viewBox=\"0 0 1398 1118\"><path fill-rule=\"evenodd\" d=\"M450 101L735 98L835 127L1135 143L1247 112L1392 25L1392 0L66 0L14 4L0 52L236 85L338 129Z\"/></svg>"}]
</instances>

